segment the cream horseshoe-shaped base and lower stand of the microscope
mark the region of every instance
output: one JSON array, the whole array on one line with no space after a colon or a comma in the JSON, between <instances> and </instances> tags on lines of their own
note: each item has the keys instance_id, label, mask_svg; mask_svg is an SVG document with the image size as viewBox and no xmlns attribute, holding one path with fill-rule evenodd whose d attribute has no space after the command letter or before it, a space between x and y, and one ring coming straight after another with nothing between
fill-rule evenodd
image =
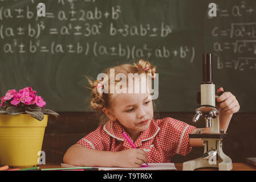
<instances>
[{"instance_id":1,"label":"cream horseshoe-shaped base and lower stand of the microscope","mask_svg":"<svg viewBox=\"0 0 256 182\"><path fill-rule=\"evenodd\" d=\"M232 160L222 151L221 140L206 138L204 138L204 140L205 153L209 150L214 150L215 148L215 150L217 151L217 155L209 159L198 158L184 162L183 171L193 171L194 169L205 167L219 168L219 171L230 171L233 168Z\"/></svg>"}]
</instances>

